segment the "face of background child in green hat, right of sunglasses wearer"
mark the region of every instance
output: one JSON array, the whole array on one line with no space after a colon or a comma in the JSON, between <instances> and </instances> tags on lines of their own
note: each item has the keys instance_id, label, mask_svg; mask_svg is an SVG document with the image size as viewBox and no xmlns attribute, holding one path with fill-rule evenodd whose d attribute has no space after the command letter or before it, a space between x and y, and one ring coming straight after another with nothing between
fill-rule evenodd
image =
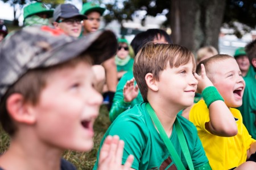
<instances>
[{"instance_id":1,"label":"face of background child in green hat, right of sunglasses wearer","mask_svg":"<svg viewBox=\"0 0 256 170\"><path fill-rule=\"evenodd\" d=\"M88 19L84 19L84 31L86 33L95 32L100 27L101 15L93 11L86 15Z\"/></svg>"}]
</instances>

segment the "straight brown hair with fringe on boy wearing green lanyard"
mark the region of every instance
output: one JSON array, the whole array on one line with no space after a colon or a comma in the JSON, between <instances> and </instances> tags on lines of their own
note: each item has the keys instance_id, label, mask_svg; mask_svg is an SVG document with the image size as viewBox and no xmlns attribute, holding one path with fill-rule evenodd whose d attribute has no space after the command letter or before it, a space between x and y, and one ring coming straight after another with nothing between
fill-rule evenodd
<instances>
[{"instance_id":1,"label":"straight brown hair with fringe on boy wearing green lanyard","mask_svg":"<svg viewBox=\"0 0 256 170\"><path fill-rule=\"evenodd\" d=\"M193 62L193 68L196 69L193 53L181 45L154 43L144 45L137 53L133 66L134 78L143 100L147 102L148 87L145 81L147 73L152 73L155 80L159 81L159 73L166 69L168 63L174 68L187 64L190 60Z\"/></svg>"}]
</instances>

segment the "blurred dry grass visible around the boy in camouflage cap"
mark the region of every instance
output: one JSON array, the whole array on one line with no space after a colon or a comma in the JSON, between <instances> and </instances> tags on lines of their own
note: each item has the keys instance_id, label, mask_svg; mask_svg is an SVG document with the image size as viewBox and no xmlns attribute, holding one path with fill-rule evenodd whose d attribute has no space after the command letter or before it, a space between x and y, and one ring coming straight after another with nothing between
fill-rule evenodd
<instances>
[{"instance_id":1,"label":"blurred dry grass visible around the boy in camouflage cap","mask_svg":"<svg viewBox=\"0 0 256 170\"><path fill-rule=\"evenodd\" d=\"M67 159L75 165L78 170L89 170L93 168L93 165L97 159L98 148L100 142L105 134L105 131L110 125L109 111L106 106L102 105L100 109L100 115L94 123L94 147L90 152L75 152L65 151L63 154L64 159ZM9 136L0 129L0 153L7 150L10 143Z\"/></svg>"}]
</instances>

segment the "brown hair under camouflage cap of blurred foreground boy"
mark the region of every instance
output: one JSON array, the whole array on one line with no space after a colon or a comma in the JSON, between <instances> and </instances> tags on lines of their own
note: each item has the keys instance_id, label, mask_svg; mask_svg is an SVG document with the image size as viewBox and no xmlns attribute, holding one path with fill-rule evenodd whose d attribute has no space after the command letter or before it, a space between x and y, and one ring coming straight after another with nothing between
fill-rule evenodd
<instances>
[{"instance_id":1,"label":"brown hair under camouflage cap of blurred foreground boy","mask_svg":"<svg viewBox=\"0 0 256 170\"><path fill-rule=\"evenodd\" d=\"M35 106L39 102L42 90L47 86L47 77L49 74L63 68L75 67L81 61L90 64L92 63L89 57L79 56L52 67L31 69L20 77L19 80L7 90L5 96L1 99L0 123L3 130L5 130L10 136L13 136L17 130L17 127L6 108L6 101L12 94L21 94L24 97L24 102L29 102Z\"/></svg>"}]
</instances>

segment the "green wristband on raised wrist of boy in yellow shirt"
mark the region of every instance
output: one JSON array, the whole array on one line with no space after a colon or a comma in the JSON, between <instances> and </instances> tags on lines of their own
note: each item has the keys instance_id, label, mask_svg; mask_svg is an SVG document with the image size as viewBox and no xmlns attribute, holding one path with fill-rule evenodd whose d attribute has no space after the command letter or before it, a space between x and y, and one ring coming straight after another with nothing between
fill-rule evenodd
<instances>
[{"instance_id":1,"label":"green wristband on raised wrist of boy in yellow shirt","mask_svg":"<svg viewBox=\"0 0 256 170\"><path fill-rule=\"evenodd\" d=\"M212 104L212 102L215 102L217 100L224 101L224 99L221 97L220 93L218 93L218 90L214 86L209 86L205 88L202 92L202 96L208 108L210 104Z\"/></svg>"}]
</instances>

